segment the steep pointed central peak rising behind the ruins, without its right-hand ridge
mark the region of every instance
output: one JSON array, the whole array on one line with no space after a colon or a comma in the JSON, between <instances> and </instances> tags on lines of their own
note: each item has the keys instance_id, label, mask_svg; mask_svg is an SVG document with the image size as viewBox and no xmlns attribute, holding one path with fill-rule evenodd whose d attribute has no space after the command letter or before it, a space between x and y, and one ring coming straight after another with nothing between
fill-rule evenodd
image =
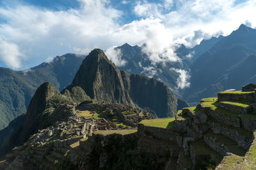
<instances>
[{"instance_id":1,"label":"steep pointed central peak rising behind the ruins, without its right-hand ridge","mask_svg":"<svg viewBox=\"0 0 256 170\"><path fill-rule=\"evenodd\" d=\"M120 71L100 49L93 50L83 60L67 89L76 86L81 87L88 96L99 102L132 104L124 89Z\"/></svg>"}]
</instances>

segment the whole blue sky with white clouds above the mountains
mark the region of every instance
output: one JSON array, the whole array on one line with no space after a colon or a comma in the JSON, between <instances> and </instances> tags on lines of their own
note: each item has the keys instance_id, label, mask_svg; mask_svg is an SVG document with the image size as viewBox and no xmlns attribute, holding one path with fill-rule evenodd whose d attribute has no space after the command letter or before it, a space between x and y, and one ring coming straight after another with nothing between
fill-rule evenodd
<instances>
[{"instance_id":1,"label":"whole blue sky with white clouds above the mountains","mask_svg":"<svg viewBox=\"0 0 256 170\"><path fill-rule=\"evenodd\" d=\"M239 25L256 27L255 0L0 0L0 66L28 69L65 53L147 46L154 62L178 62L177 44L228 35Z\"/></svg>"}]
</instances>

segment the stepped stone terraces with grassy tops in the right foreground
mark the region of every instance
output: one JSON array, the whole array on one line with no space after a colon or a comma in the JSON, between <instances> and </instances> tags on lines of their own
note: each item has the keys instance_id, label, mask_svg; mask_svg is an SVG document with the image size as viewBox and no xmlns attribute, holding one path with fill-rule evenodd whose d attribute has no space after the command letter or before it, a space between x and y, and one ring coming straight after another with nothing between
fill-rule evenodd
<instances>
[{"instance_id":1,"label":"stepped stone terraces with grassy tops in the right foreground","mask_svg":"<svg viewBox=\"0 0 256 170\"><path fill-rule=\"evenodd\" d=\"M254 91L220 92L218 97L202 99L196 107L178 111L172 122L170 129L153 123L138 127L141 150L159 155L170 153L166 169L254 168L256 157L248 158L249 154L256 155ZM170 143L175 147L170 147Z\"/></svg>"}]
</instances>

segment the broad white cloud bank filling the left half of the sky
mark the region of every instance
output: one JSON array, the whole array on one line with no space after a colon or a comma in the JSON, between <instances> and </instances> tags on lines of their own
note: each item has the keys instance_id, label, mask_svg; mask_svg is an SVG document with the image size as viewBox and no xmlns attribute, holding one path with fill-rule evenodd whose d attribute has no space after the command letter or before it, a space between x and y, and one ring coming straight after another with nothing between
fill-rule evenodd
<instances>
[{"instance_id":1,"label":"broad white cloud bank filling the left half of the sky","mask_svg":"<svg viewBox=\"0 0 256 170\"><path fill-rule=\"evenodd\" d=\"M0 7L0 16L6 20L0 24L0 37L6 39L1 44L12 42L9 46L15 48L12 57L8 57L12 62L1 59L7 66L17 69L22 67L24 55L39 64L49 55L76 52L77 49L87 53L96 47L109 48L108 38L120 27L116 19L122 16L122 12L104 0L81 0L80 3L81 8L68 11L26 5ZM6 50L1 53L6 53Z\"/></svg>"}]
</instances>

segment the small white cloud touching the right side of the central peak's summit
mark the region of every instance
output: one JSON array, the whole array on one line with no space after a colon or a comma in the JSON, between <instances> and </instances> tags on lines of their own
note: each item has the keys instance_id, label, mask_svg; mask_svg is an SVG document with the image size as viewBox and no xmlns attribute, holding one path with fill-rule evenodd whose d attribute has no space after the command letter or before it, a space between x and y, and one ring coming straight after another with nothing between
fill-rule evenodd
<instances>
[{"instance_id":1,"label":"small white cloud touching the right side of the central peak's summit","mask_svg":"<svg viewBox=\"0 0 256 170\"><path fill-rule=\"evenodd\" d=\"M111 48L108 48L108 50L106 50L105 53L108 59L111 60L113 63L115 63L117 67L125 66L125 64L127 64L127 61L122 59L121 50L116 49L115 47L116 46L113 46Z\"/></svg>"}]
</instances>

